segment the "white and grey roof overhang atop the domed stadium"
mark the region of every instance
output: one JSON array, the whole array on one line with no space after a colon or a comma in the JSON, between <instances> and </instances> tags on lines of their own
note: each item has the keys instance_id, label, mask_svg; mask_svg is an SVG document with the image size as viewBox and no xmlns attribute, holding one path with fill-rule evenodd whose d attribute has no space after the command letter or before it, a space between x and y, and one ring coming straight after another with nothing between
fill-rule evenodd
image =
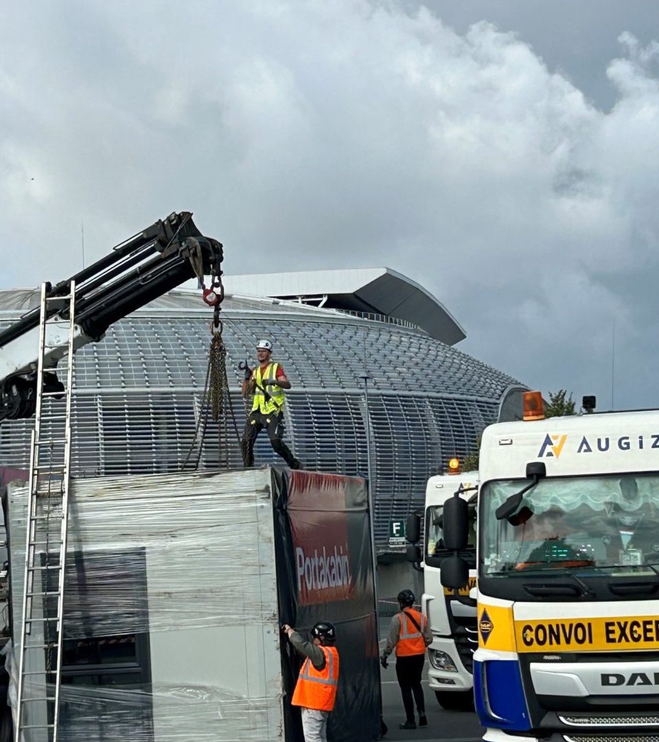
<instances>
[{"instance_id":1,"label":"white and grey roof overhang atop the domed stadium","mask_svg":"<svg viewBox=\"0 0 659 742\"><path fill-rule=\"evenodd\" d=\"M257 273L225 276L223 280L228 294L292 299L327 309L395 317L419 326L447 345L466 338L446 306L391 268Z\"/></svg>"}]
</instances>

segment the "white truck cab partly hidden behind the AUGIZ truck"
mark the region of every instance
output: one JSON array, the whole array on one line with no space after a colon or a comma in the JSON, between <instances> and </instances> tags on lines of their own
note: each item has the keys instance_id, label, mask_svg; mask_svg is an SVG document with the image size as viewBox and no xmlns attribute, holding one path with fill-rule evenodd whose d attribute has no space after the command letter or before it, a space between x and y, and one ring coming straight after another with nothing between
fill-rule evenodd
<instances>
[{"instance_id":1,"label":"white truck cab partly hidden behind the AUGIZ truck","mask_svg":"<svg viewBox=\"0 0 659 742\"><path fill-rule=\"evenodd\" d=\"M460 603L449 597L451 591L442 587L440 564L448 554L443 546L442 513L444 502L458 489L460 497L472 501L471 513L476 514L475 500L478 472L431 476L425 489L425 537L423 545L423 576L425 592L421 599L423 613L432 631L428 647L428 684L445 709L473 707L473 654L478 646L475 605ZM476 539L474 521L464 557L471 561L468 585L460 597L468 597L476 585Z\"/></svg>"}]
</instances>

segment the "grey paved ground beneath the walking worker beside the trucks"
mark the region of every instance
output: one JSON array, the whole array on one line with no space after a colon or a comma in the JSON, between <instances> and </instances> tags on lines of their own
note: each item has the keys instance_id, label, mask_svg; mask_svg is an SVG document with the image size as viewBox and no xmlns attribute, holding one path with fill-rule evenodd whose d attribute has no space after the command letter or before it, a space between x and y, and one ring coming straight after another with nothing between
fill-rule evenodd
<instances>
[{"instance_id":1,"label":"grey paved ground beneath the walking worker beside the trucks","mask_svg":"<svg viewBox=\"0 0 659 742\"><path fill-rule=\"evenodd\" d=\"M434 692L428 690L427 680L423 681L423 692L428 726L422 729L398 729L398 725L405 721L405 712L403 711L400 689L396 682L394 662L395 658L390 657L388 669L382 671L383 712L385 724L389 728L387 735L383 738L384 742L401 742L403 740L425 740L425 742L445 740L451 740L451 742L480 741L483 735L483 727L480 726L474 712L445 711L437 703ZM423 677L427 677L425 669Z\"/></svg>"}]
</instances>

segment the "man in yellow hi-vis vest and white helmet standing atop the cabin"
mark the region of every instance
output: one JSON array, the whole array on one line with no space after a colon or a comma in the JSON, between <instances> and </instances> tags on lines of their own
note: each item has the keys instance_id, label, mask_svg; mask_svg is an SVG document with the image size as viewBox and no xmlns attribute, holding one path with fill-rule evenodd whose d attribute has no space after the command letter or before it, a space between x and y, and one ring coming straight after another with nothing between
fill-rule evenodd
<instances>
[{"instance_id":1,"label":"man in yellow hi-vis vest and white helmet standing atop the cabin","mask_svg":"<svg viewBox=\"0 0 659 742\"><path fill-rule=\"evenodd\" d=\"M268 431L272 449L278 453L291 469L299 469L301 464L282 441L284 435L284 390L291 388L282 364L272 361L272 343L259 340L256 344L258 366L250 369L245 366L245 380L242 382L242 396L253 395L252 410L245 422L242 434L242 460L246 467L254 465L254 443L262 428ZM242 365L241 365L242 368Z\"/></svg>"}]
</instances>

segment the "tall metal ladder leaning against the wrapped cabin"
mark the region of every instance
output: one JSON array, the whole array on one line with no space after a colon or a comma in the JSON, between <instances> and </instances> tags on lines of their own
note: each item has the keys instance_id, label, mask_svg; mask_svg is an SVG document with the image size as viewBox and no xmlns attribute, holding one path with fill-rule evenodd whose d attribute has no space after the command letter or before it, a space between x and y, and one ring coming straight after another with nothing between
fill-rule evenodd
<instances>
[{"instance_id":1,"label":"tall metal ladder leaning against the wrapped cabin","mask_svg":"<svg viewBox=\"0 0 659 742\"><path fill-rule=\"evenodd\" d=\"M30 451L23 621L16 707L15 742L57 742L62 669L64 568L73 391L75 282L67 296L48 297L42 284L36 412ZM53 311L56 312L53 315ZM62 312L68 312L62 319ZM50 315L50 316L49 316ZM57 366L64 391L52 391L44 368L45 353L68 326L68 343ZM49 344L49 335L50 343ZM56 604L56 615L54 606Z\"/></svg>"}]
</instances>

